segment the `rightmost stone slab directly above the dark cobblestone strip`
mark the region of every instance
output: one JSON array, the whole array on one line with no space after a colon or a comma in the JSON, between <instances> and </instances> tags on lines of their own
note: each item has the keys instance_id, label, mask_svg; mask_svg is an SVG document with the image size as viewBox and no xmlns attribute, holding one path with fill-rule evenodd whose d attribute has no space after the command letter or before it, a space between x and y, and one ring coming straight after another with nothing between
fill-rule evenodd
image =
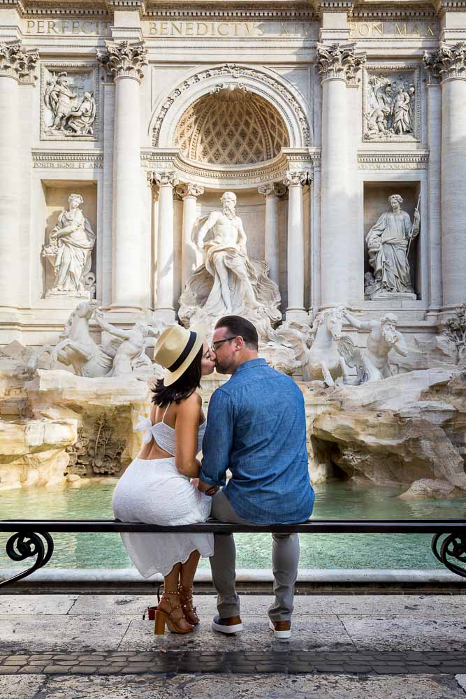
<instances>
[{"instance_id":1,"label":"rightmost stone slab directly above the dark cobblestone strip","mask_svg":"<svg viewBox=\"0 0 466 699\"><path fill-rule=\"evenodd\" d=\"M466 616L432 619L340 617L359 649L466 650Z\"/></svg>"}]
</instances>

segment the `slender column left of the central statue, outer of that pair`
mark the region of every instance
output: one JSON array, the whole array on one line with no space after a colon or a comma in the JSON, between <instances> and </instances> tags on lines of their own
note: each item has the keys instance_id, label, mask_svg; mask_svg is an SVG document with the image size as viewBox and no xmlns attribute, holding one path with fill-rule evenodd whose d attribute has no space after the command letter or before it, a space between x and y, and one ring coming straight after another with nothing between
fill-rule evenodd
<instances>
[{"instance_id":1,"label":"slender column left of the central statue, outer of that pair","mask_svg":"<svg viewBox=\"0 0 466 699\"><path fill-rule=\"evenodd\" d=\"M157 230L156 314L167 323L175 321L173 308L173 188L175 173L152 173L159 185L159 224Z\"/></svg>"}]
</instances>

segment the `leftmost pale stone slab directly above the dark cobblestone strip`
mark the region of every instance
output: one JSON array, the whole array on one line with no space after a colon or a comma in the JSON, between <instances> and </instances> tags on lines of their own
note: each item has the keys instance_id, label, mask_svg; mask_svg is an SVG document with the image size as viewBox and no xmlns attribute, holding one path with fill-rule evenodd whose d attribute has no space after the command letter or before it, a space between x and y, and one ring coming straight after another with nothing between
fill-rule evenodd
<instances>
[{"instance_id":1,"label":"leftmost pale stone slab directly above the dark cobblestone strip","mask_svg":"<svg viewBox=\"0 0 466 699\"><path fill-rule=\"evenodd\" d=\"M0 649L8 651L117 650L131 618L0 617Z\"/></svg>"}]
</instances>

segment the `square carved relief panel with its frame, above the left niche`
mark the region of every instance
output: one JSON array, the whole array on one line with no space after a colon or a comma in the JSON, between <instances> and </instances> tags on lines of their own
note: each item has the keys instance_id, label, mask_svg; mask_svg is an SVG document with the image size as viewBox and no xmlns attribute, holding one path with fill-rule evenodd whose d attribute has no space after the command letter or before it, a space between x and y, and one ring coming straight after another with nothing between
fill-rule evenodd
<instances>
[{"instance_id":1,"label":"square carved relief panel with its frame, above the left niche","mask_svg":"<svg viewBox=\"0 0 466 699\"><path fill-rule=\"evenodd\" d=\"M41 140L97 140L96 63L45 64L41 77Z\"/></svg>"}]
</instances>

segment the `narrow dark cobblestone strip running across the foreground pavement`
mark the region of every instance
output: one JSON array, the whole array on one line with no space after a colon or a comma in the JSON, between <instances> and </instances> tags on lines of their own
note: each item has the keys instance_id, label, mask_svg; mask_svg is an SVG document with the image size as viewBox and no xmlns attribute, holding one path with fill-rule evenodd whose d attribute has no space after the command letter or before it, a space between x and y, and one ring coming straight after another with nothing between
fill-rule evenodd
<instances>
[{"instance_id":1,"label":"narrow dark cobblestone strip running across the foreground pavement","mask_svg":"<svg viewBox=\"0 0 466 699\"><path fill-rule=\"evenodd\" d=\"M466 652L419 651L154 651L152 653L38 653L0 656L0 675L140 675L284 672L346 675L466 674Z\"/></svg>"}]
</instances>

